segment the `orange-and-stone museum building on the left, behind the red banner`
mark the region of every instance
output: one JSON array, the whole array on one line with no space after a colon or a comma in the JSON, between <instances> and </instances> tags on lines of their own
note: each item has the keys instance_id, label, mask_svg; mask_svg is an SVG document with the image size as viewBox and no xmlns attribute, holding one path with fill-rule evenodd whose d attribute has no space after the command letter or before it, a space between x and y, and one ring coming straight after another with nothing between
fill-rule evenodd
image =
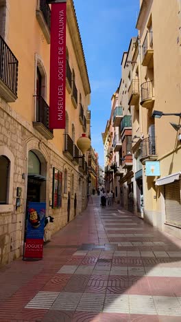
<instances>
[{"instance_id":1,"label":"orange-and-stone museum building on the left, behind the red banner","mask_svg":"<svg viewBox=\"0 0 181 322\"><path fill-rule=\"evenodd\" d=\"M90 138L88 72L73 1L67 0L64 128L52 127L52 6L0 1L0 265L22 255L29 202L44 202L46 216L54 218L49 236L86 208L88 155L80 158L77 139L82 133Z\"/></svg>"}]
</instances>

